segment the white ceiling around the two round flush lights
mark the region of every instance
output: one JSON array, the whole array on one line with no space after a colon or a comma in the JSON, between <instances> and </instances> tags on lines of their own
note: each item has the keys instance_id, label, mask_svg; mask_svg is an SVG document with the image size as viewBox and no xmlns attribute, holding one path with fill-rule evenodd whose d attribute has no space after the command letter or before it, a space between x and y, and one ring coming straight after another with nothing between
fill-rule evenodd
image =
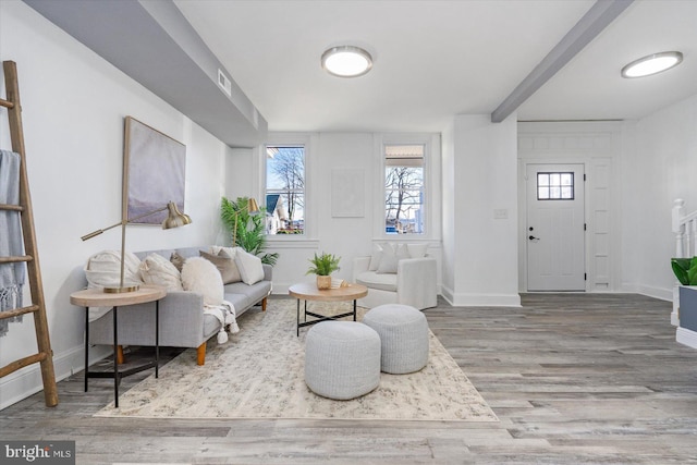
<instances>
[{"instance_id":1,"label":"white ceiling around the two round flush lights","mask_svg":"<svg viewBox=\"0 0 697 465\"><path fill-rule=\"evenodd\" d=\"M433 131L491 113L594 0L174 0L270 131ZM340 78L322 52L357 45L372 70ZM678 50L645 78L620 70ZM518 120L639 119L697 94L697 1L636 0L518 108Z\"/></svg>"}]
</instances>

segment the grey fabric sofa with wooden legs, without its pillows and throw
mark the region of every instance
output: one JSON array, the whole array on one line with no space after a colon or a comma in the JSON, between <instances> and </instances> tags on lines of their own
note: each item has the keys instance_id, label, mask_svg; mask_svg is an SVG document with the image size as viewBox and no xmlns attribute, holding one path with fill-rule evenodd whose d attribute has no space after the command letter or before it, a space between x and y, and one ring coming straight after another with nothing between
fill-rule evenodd
<instances>
[{"instance_id":1,"label":"grey fabric sofa with wooden legs, without its pillows and throw","mask_svg":"<svg viewBox=\"0 0 697 465\"><path fill-rule=\"evenodd\" d=\"M139 252L135 255L144 259L151 253L169 259L173 252L183 258L197 257L199 250L208 252L209 246L172 248ZM267 297L271 294L272 268L264 265L264 280L247 285L243 282L225 284L224 299L235 307L237 317L256 304L266 311ZM154 304L131 305L119 308L119 344L155 345ZM206 360L206 342L220 331L220 321L204 315L204 296L188 291L170 291L160 301L160 345L169 347L192 347L197 350L198 365ZM89 323L89 343L113 344L112 310Z\"/></svg>"}]
</instances>

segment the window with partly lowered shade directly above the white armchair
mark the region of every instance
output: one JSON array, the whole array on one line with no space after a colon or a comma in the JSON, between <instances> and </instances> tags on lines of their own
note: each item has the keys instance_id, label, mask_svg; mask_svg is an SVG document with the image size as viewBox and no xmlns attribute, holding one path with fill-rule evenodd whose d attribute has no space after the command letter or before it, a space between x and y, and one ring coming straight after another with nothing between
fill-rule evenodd
<instances>
[{"instance_id":1,"label":"window with partly lowered shade directly above the white armchair","mask_svg":"<svg viewBox=\"0 0 697 465\"><path fill-rule=\"evenodd\" d=\"M384 232L424 234L425 145L384 146Z\"/></svg>"}]
</instances>

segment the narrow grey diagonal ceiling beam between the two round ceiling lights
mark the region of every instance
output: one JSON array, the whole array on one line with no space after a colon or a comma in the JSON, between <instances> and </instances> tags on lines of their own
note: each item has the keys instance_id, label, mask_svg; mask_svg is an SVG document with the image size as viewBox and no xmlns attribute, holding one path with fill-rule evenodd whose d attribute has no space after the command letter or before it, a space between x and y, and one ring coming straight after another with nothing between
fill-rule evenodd
<instances>
[{"instance_id":1,"label":"narrow grey diagonal ceiling beam between the two round ceiling lights","mask_svg":"<svg viewBox=\"0 0 697 465\"><path fill-rule=\"evenodd\" d=\"M491 113L491 122L500 123L547 83L559 70L595 39L634 0L598 0L547 57Z\"/></svg>"}]
</instances>

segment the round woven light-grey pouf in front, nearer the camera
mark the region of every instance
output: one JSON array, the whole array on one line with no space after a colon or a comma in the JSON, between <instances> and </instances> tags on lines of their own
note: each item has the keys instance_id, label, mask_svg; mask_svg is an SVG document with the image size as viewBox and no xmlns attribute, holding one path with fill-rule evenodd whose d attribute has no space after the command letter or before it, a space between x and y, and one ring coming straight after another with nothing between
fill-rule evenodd
<instances>
[{"instance_id":1,"label":"round woven light-grey pouf in front, nearer the camera","mask_svg":"<svg viewBox=\"0 0 697 465\"><path fill-rule=\"evenodd\" d=\"M305 382L322 397L346 401L380 383L380 336L355 321L321 321L305 338Z\"/></svg>"}]
</instances>

